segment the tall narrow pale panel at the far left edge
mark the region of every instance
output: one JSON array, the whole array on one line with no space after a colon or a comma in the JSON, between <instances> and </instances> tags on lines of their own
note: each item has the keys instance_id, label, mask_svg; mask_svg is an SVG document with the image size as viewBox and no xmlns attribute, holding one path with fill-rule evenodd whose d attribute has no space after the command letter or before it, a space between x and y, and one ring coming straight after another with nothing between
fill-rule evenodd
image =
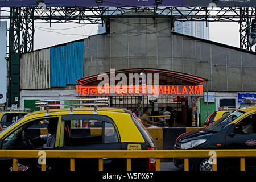
<instances>
[{"instance_id":1,"label":"tall narrow pale panel at the far left edge","mask_svg":"<svg viewBox=\"0 0 256 182\"><path fill-rule=\"evenodd\" d=\"M6 57L6 36L7 36L7 22L1 22L0 26L0 104L6 103L7 93L7 61Z\"/></svg>"}]
</instances>

